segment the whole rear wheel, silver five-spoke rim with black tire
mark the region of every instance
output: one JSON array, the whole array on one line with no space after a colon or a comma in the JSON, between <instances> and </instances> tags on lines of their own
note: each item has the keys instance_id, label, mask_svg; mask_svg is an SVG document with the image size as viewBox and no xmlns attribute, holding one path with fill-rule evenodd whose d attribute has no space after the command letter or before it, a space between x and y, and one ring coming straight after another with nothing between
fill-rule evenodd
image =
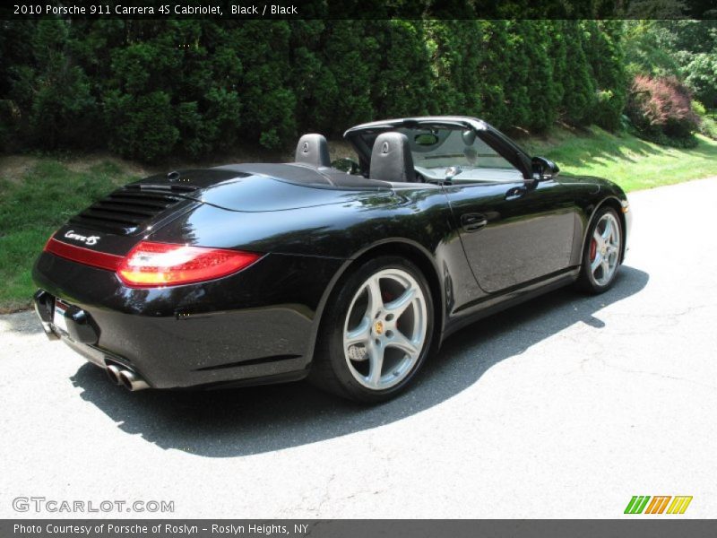
<instances>
[{"instance_id":1,"label":"whole rear wheel, silver five-spoke rim with black tire","mask_svg":"<svg viewBox=\"0 0 717 538\"><path fill-rule=\"evenodd\" d=\"M359 402L387 400L410 383L428 355L428 282L408 260L370 260L344 282L324 319L309 380Z\"/></svg>"}]
</instances>

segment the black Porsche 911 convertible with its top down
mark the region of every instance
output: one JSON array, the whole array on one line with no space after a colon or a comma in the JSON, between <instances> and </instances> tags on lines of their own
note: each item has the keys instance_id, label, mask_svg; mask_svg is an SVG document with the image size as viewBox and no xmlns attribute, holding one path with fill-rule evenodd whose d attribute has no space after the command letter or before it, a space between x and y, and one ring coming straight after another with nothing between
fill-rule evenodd
<instances>
[{"instance_id":1,"label":"black Porsche 911 convertible with its top down","mask_svg":"<svg viewBox=\"0 0 717 538\"><path fill-rule=\"evenodd\" d=\"M558 177L472 117L319 134L295 162L187 169L122 187L48 240L33 276L46 333L145 387L308 377L387 399L448 334L572 282L614 282L625 193Z\"/></svg>"}]
</instances>

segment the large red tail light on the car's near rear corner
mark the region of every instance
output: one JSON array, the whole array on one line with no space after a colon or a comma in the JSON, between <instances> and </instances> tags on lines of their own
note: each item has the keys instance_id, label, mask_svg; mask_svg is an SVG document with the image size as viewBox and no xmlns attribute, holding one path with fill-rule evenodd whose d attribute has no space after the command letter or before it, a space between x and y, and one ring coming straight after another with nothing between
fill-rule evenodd
<instances>
[{"instance_id":1,"label":"large red tail light on the car's near rear corner","mask_svg":"<svg viewBox=\"0 0 717 538\"><path fill-rule=\"evenodd\" d=\"M143 241L125 256L117 275L129 286L173 286L237 273L260 257L224 248Z\"/></svg>"}]
</instances>

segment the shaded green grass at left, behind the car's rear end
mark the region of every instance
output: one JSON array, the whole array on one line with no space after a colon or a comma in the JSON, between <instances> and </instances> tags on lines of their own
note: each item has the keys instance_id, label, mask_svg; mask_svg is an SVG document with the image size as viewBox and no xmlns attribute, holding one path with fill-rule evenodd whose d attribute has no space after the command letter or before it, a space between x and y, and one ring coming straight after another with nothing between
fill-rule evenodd
<instances>
[{"instance_id":1,"label":"shaded green grass at left, behind the car's rear end","mask_svg":"<svg viewBox=\"0 0 717 538\"><path fill-rule=\"evenodd\" d=\"M21 178L0 177L0 313L28 307L32 264L52 231L131 179L112 162L73 171L51 159Z\"/></svg>"}]
</instances>

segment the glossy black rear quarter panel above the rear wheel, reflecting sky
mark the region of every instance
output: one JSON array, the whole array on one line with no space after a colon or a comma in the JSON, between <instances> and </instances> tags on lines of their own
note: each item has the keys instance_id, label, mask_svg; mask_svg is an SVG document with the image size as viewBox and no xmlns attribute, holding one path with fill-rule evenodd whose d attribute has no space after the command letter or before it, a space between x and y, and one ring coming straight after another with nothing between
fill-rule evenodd
<instances>
[{"instance_id":1,"label":"glossy black rear quarter panel above the rear wheel, reflecting sky","mask_svg":"<svg viewBox=\"0 0 717 538\"><path fill-rule=\"evenodd\" d=\"M340 259L343 263L332 286L359 256L402 243L433 266L439 299L449 314L482 293L440 187L361 192L339 204L264 213L204 204L156 231L151 239Z\"/></svg>"}]
</instances>

